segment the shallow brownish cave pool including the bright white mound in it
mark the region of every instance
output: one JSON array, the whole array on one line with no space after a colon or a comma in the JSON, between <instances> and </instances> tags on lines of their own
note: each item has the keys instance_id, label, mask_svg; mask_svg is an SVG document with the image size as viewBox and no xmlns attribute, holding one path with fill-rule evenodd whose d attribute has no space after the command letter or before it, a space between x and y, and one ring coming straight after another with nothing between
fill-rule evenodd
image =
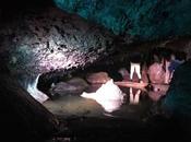
<instances>
[{"instance_id":1,"label":"shallow brownish cave pool including the bright white mound in it","mask_svg":"<svg viewBox=\"0 0 191 142\"><path fill-rule=\"evenodd\" d=\"M104 88L104 90L103 90ZM159 92L142 92L138 88L116 87L112 81L97 87L96 92L80 95L64 95L55 100L44 103L56 115L141 118L145 116L157 100L162 97ZM88 99L91 98L91 99Z\"/></svg>"}]
</instances>

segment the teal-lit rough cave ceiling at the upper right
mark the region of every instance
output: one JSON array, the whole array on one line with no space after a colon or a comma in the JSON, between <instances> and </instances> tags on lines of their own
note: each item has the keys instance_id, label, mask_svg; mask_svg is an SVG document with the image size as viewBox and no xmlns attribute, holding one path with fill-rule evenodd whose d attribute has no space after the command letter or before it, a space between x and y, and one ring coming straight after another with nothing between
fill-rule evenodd
<instances>
[{"instance_id":1,"label":"teal-lit rough cave ceiling at the upper right","mask_svg":"<svg viewBox=\"0 0 191 142\"><path fill-rule=\"evenodd\" d=\"M117 35L141 40L191 34L190 0L55 0Z\"/></svg>"}]
</instances>

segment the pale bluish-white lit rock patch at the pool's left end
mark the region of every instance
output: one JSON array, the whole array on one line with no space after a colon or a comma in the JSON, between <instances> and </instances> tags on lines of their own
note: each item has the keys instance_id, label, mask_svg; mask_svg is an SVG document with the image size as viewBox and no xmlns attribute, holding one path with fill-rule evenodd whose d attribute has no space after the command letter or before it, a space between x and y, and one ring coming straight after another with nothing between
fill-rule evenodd
<instances>
[{"instance_id":1,"label":"pale bluish-white lit rock patch at the pool's left end","mask_svg":"<svg viewBox=\"0 0 191 142\"><path fill-rule=\"evenodd\" d=\"M27 92L39 103L44 103L48 99L48 96L44 94L43 92L38 91L37 83L38 83L39 74L35 79L35 81L32 84L27 85Z\"/></svg>"}]
</instances>

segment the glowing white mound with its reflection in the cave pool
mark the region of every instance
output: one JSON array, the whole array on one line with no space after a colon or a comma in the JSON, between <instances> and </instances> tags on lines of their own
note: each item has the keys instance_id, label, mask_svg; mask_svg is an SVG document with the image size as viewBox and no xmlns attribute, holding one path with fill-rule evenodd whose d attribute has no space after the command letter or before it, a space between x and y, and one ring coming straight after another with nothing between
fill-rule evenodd
<instances>
[{"instance_id":1,"label":"glowing white mound with its reflection in the cave pool","mask_svg":"<svg viewBox=\"0 0 191 142\"><path fill-rule=\"evenodd\" d=\"M83 93L81 96L95 99L107 113L118 110L123 103L124 93L114 84L112 80L103 84L95 93Z\"/></svg>"}]
</instances>

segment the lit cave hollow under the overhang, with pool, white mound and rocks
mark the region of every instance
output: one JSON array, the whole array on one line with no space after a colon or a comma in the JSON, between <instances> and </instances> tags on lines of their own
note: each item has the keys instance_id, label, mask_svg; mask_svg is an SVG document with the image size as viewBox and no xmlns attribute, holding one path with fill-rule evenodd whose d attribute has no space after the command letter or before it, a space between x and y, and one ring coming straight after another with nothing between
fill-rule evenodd
<instances>
[{"instance_id":1,"label":"lit cave hollow under the overhang, with pool, white mound and rocks","mask_svg":"<svg viewBox=\"0 0 191 142\"><path fill-rule=\"evenodd\" d=\"M43 104L52 114L65 118L119 117L142 120L144 119L142 117L148 117L151 109L156 109L156 114L160 109L160 102L172 78L164 67L174 52L176 51L166 48L154 48L147 55L139 52L132 55L128 58L129 63L128 59L121 63L127 64L126 67L112 64L108 66L110 67L108 69L103 64L97 63L83 70L75 70L70 75L69 73L60 75L60 72L45 73L39 76L38 88L47 94L49 99ZM139 59L138 56L141 58ZM134 58L141 67L141 81L135 69L132 79L130 76L132 66L130 62Z\"/></svg>"}]
</instances>

